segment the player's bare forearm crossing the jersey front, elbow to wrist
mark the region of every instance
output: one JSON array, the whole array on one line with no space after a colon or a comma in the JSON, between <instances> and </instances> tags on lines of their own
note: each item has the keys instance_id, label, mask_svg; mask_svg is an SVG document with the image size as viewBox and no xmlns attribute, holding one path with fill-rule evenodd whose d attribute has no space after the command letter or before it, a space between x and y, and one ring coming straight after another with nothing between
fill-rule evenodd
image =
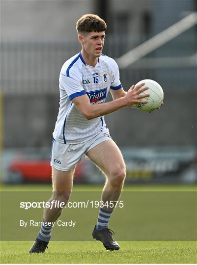
<instances>
[{"instance_id":1,"label":"player's bare forearm crossing the jersey front, elbow to wrist","mask_svg":"<svg viewBox=\"0 0 197 265\"><path fill-rule=\"evenodd\" d=\"M124 98L119 98L111 102L106 102L103 104L89 105L86 109L85 117L88 120L110 114L122 107L126 106Z\"/></svg>"}]
</instances>

